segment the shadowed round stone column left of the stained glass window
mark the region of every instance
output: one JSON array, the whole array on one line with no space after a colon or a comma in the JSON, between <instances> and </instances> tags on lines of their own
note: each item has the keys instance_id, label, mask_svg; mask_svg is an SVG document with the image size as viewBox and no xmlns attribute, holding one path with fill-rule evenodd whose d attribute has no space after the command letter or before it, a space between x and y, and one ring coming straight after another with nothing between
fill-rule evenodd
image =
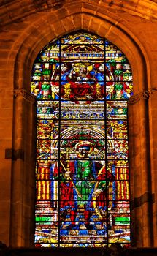
<instances>
[{"instance_id":1,"label":"shadowed round stone column left of the stained glass window","mask_svg":"<svg viewBox=\"0 0 157 256\"><path fill-rule=\"evenodd\" d=\"M26 90L14 91L10 245L34 243L36 104Z\"/></svg>"}]
</instances>

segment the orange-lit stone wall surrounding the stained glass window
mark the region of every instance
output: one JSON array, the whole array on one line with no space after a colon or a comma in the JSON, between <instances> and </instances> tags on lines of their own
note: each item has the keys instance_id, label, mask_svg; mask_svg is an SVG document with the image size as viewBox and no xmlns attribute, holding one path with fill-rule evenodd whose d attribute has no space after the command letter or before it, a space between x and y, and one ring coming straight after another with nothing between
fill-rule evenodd
<instances>
[{"instance_id":1,"label":"orange-lit stone wall surrounding the stained glass window","mask_svg":"<svg viewBox=\"0 0 157 256\"><path fill-rule=\"evenodd\" d=\"M39 2L37 4L37 2ZM11 1L0 6L0 241L33 246L36 103L31 68L50 40L84 29L126 54L132 241L157 246L157 4L154 1Z\"/></svg>"}]
</instances>

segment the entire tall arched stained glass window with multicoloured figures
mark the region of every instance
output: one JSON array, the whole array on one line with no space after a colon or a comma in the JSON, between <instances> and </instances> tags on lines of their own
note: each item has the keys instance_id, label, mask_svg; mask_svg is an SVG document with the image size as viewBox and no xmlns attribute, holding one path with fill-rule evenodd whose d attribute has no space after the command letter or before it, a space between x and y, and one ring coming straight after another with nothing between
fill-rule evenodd
<instances>
[{"instance_id":1,"label":"entire tall arched stained glass window with multicoloured figures","mask_svg":"<svg viewBox=\"0 0 157 256\"><path fill-rule=\"evenodd\" d=\"M37 97L35 246L129 246L126 56L95 34L68 34L37 56L31 93Z\"/></svg>"}]
</instances>

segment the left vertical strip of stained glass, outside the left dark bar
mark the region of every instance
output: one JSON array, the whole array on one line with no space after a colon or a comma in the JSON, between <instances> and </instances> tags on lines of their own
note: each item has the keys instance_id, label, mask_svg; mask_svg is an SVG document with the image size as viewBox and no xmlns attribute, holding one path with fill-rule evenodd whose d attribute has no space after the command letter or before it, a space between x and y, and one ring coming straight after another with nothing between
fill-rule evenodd
<instances>
[{"instance_id":1,"label":"left vertical strip of stained glass, outside the left dark bar","mask_svg":"<svg viewBox=\"0 0 157 256\"><path fill-rule=\"evenodd\" d=\"M31 82L37 96L36 246L58 246L58 178L54 177L58 173L59 67L58 41L37 57Z\"/></svg>"}]
</instances>

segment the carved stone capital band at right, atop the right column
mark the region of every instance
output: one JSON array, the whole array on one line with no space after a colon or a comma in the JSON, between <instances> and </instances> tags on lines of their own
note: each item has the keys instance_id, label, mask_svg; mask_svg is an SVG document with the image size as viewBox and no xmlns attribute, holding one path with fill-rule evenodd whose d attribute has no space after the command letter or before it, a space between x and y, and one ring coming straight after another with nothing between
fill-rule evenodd
<instances>
[{"instance_id":1,"label":"carved stone capital band at right, atop the right column","mask_svg":"<svg viewBox=\"0 0 157 256\"><path fill-rule=\"evenodd\" d=\"M150 98L150 94L153 94L155 92L157 92L157 88L148 89L148 90L139 92L139 94L134 94L133 96L131 96L128 102L130 105L134 105L135 103L139 102L141 99L148 100Z\"/></svg>"}]
</instances>

